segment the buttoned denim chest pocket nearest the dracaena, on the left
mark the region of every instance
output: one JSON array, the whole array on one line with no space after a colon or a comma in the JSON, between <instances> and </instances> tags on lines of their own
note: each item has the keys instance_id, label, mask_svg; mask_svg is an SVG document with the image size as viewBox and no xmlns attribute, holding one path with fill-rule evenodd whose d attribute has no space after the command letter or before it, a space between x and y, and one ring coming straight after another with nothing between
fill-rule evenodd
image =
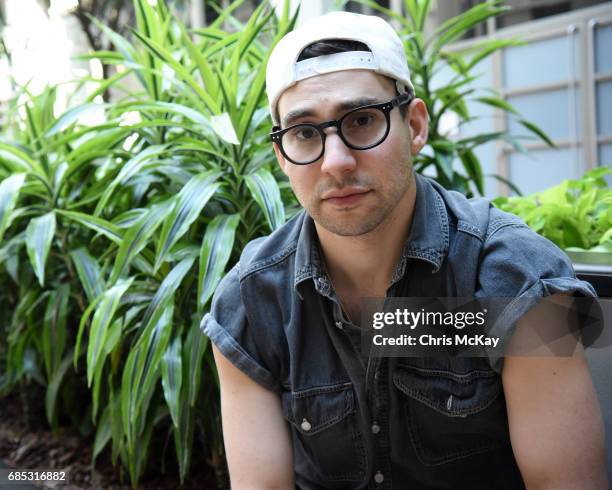
<instances>
[{"instance_id":1,"label":"buttoned denim chest pocket nearest the dracaena, on the left","mask_svg":"<svg viewBox=\"0 0 612 490\"><path fill-rule=\"evenodd\" d=\"M314 471L326 486L363 480L366 452L350 383L285 392L281 403L291 424L296 472Z\"/></svg>"}]
</instances>

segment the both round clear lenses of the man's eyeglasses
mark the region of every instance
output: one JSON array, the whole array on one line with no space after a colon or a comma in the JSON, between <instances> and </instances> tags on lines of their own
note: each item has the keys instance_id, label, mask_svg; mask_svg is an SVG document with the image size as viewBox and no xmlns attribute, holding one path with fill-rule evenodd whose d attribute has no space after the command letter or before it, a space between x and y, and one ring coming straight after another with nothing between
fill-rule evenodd
<instances>
[{"instance_id":1,"label":"both round clear lenses of the man's eyeglasses","mask_svg":"<svg viewBox=\"0 0 612 490\"><path fill-rule=\"evenodd\" d=\"M340 125L340 133L349 146L360 149L376 145L387 133L387 118L380 109L364 108L348 113ZM323 151L323 136L316 127L300 124L282 138L286 155L298 163L317 159Z\"/></svg>"}]
</instances>

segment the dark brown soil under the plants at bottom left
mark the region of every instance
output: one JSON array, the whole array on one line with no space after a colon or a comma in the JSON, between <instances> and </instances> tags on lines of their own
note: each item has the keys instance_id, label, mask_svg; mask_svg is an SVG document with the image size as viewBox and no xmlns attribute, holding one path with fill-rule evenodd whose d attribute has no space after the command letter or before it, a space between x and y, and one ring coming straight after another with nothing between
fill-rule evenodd
<instances>
[{"instance_id":1,"label":"dark brown soil under the plants at bottom left","mask_svg":"<svg viewBox=\"0 0 612 490\"><path fill-rule=\"evenodd\" d=\"M78 432L58 429L51 432L44 416L34 423L25 415L20 399L9 395L0 399L0 460L15 469L57 469L65 471L68 482L63 484L38 482L30 488L61 488L66 490L104 489L131 490L129 478L120 478L105 451L91 468L93 441L82 439ZM27 420L30 419L30 420ZM151 448L151 452L155 451ZM195 454L194 454L195 459ZM139 489L150 490L216 490L208 466L193 461L191 476L181 486L176 474L145 475ZM1 487L2 485L0 485ZM21 487L25 488L26 487Z\"/></svg>"}]
</instances>

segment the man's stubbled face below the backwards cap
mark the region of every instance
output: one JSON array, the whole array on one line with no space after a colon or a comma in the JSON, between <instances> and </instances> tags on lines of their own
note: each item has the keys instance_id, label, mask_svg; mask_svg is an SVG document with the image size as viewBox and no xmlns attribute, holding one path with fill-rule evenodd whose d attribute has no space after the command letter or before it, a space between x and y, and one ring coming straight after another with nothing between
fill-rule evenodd
<instances>
[{"instance_id":1,"label":"man's stubbled face below the backwards cap","mask_svg":"<svg viewBox=\"0 0 612 490\"><path fill-rule=\"evenodd\" d=\"M346 107L394 97L391 80L368 70L347 70L298 82L281 96L278 113L286 128L339 119L348 112ZM369 102L361 103L365 100ZM318 225L337 235L358 236L375 230L391 215L413 180L409 119L410 113L402 118L394 108L389 135L369 150L348 148L336 128L327 128L325 153L308 165L285 160L274 145L298 201Z\"/></svg>"}]
</instances>

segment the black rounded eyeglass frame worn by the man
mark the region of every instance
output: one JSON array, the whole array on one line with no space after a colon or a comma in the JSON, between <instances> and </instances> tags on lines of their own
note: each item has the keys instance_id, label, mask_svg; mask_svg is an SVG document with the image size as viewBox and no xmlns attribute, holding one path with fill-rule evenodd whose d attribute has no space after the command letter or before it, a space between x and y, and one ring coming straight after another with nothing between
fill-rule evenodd
<instances>
[{"instance_id":1,"label":"black rounded eyeglass frame worn by the man","mask_svg":"<svg viewBox=\"0 0 612 490\"><path fill-rule=\"evenodd\" d=\"M342 140L342 142L350 149L352 150L369 150L371 148L375 148L378 145L382 144L383 141L385 141L387 139L387 136L389 136L389 132L391 131L391 116L390 113L391 111L395 108L395 107L400 107L406 104L410 104L413 100L415 99L415 96L413 93L411 92L406 92L403 94L399 94L397 96L395 96L393 99L391 99L388 102L381 102L379 104L368 104L368 105L364 105L361 107L356 107L355 109L351 109L350 111L348 111L346 114L344 114L342 117L340 117L339 119L330 119L329 121L324 121L322 123L316 124L316 123L297 123L297 124L293 124L292 126L289 126L285 129L281 129L280 126L274 126L272 128L272 132L270 133L270 139L272 140L273 143L276 143L281 151L281 154L283 155L283 157L285 157L287 160L289 160L291 163L293 163L294 165L310 165L311 163L316 162L319 158L321 158L323 156L323 154L325 153L325 138L327 137L327 133L325 131L323 131L324 129L327 128L331 128L331 127L335 127L336 128L336 132L338 134L338 136L340 137L340 139ZM364 146L364 147L358 147L355 145L352 145L351 143L349 143L346 138L344 137L344 134L342 133L342 122L344 121L344 119L346 117L348 117L349 115L351 115L354 112L357 111L362 111L364 109L379 109L383 112L383 114L385 115L385 119L387 121L387 130L385 131L385 134L382 136L382 138L380 139L380 141L369 145L369 146ZM283 135L287 132L290 131L293 128L296 128L298 126L309 126L311 128L314 128L317 130L317 132L319 133L319 135L321 136L321 153L319 153L319 155L313 159L310 160L308 162L296 162L294 160L291 159L291 157L289 157L286 153L285 153L285 149L283 148L283 143L282 143L282 139L283 139Z\"/></svg>"}]
</instances>

